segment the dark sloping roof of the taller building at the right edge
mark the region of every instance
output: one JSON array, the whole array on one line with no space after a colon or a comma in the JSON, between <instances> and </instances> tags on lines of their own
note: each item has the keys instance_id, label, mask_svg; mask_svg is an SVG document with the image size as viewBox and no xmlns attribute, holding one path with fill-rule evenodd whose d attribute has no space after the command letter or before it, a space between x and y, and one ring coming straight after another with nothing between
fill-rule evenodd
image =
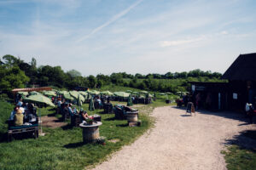
<instances>
[{"instance_id":1,"label":"dark sloping roof of the taller building at the right edge","mask_svg":"<svg viewBox=\"0 0 256 170\"><path fill-rule=\"evenodd\" d=\"M256 81L256 53L240 54L224 72L222 77L228 80Z\"/></svg>"}]
</instances>

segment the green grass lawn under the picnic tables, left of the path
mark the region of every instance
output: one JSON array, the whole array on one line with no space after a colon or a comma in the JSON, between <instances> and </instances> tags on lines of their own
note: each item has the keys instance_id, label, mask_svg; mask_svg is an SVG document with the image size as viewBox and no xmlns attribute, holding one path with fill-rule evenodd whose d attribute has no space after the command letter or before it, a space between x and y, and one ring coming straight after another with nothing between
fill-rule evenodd
<instances>
[{"instance_id":1,"label":"green grass lawn under the picnic tables, left of the path","mask_svg":"<svg viewBox=\"0 0 256 170\"><path fill-rule=\"evenodd\" d=\"M113 102L115 104L117 102ZM118 102L121 103L121 102ZM126 105L126 103L121 103ZM5 121L9 118L13 105L0 102L0 169L84 169L106 157L125 144L131 144L153 125L154 120L148 116L154 107L166 105L164 100L158 100L152 105L137 107L141 127L128 127L127 121L114 120L114 114L102 114L102 110L89 111L90 115L102 116L100 135L107 138L107 143L83 144L82 129L80 127L65 127L55 129L43 127L45 136L38 139L15 139L7 143L3 141L7 132ZM4 105L4 106L3 106ZM88 110L88 104L83 105ZM51 108L41 109L42 115L53 113ZM58 117L58 116L57 116ZM113 143L110 140L117 139Z\"/></svg>"}]
</instances>

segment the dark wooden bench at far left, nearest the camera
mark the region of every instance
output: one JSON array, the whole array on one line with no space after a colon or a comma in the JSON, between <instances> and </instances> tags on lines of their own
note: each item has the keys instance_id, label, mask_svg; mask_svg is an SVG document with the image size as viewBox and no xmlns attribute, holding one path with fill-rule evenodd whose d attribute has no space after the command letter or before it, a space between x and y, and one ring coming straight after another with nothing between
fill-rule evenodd
<instances>
[{"instance_id":1,"label":"dark wooden bench at far left, nearest the camera","mask_svg":"<svg viewBox=\"0 0 256 170\"><path fill-rule=\"evenodd\" d=\"M13 134L17 133L33 133L34 139L38 138L38 124L34 125L22 125L19 127L9 127L8 130L8 141L11 141Z\"/></svg>"}]
</instances>

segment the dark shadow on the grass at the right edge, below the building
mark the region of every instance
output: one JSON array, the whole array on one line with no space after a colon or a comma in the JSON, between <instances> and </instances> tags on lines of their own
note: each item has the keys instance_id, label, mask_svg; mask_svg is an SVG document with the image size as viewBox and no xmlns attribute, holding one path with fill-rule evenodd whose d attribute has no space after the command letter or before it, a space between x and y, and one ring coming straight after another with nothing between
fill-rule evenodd
<instances>
[{"instance_id":1,"label":"dark shadow on the grass at the right edge, below the building","mask_svg":"<svg viewBox=\"0 0 256 170\"><path fill-rule=\"evenodd\" d=\"M252 150L256 153L256 130L242 131L234 136L233 139L225 140L224 144L236 144L241 149Z\"/></svg>"}]
</instances>

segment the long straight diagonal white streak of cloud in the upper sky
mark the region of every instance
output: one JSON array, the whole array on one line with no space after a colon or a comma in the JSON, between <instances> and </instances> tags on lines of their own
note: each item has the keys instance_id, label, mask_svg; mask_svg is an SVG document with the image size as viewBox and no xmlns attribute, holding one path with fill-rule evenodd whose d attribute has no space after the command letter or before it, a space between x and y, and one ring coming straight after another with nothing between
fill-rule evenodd
<instances>
[{"instance_id":1,"label":"long straight diagonal white streak of cloud in the upper sky","mask_svg":"<svg viewBox=\"0 0 256 170\"><path fill-rule=\"evenodd\" d=\"M104 27L109 26L110 24L112 24L114 21L119 20L119 18L121 18L122 16L124 16L125 14L127 14L132 8L135 8L139 3L142 3L143 0L138 0L136 3L133 3L129 8L125 8L125 10L123 10L122 12L120 12L119 14L116 14L113 16L112 19L108 20L107 22L105 22L104 24L102 24L102 26L98 26L96 27L94 30L92 30L90 32L90 34L79 38L79 40L77 42L82 42L85 39L87 39L88 37L94 35L96 32L101 31Z\"/></svg>"}]
</instances>

